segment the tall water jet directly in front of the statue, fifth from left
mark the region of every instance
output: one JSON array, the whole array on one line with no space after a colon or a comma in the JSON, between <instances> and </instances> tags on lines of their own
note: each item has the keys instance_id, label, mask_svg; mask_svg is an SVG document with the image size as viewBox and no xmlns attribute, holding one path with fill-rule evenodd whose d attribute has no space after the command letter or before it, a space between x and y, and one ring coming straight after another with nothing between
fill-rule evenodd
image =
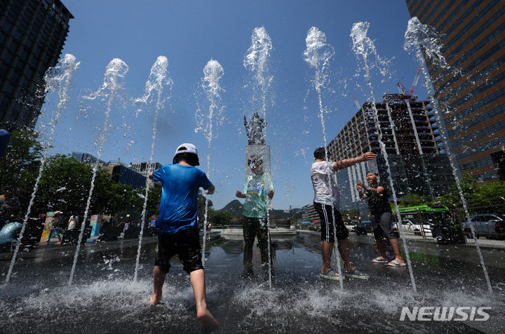
<instances>
[{"instance_id":1,"label":"tall water jet directly in front of the statue, fifth from left","mask_svg":"<svg viewBox=\"0 0 505 334\"><path fill-rule=\"evenodd\" d=\"M256 27L251 35L251 45L243 58L243 65L245 69L253 74L253 105L260 101L260 115L263 119L267 119L267 98L271 97L271 83L274 81L274 76L269 73L268 60L270 51L272 50L272 42L267 30L264 27ZM259 88L259 92L257 89ZM259 96L258 96L259 95ZM267 128L264 128L264 140L267 142ZM264 173L269 174L270 161L267 167L268 171ZM267 239L268 239L268 255L269 255L269 289L271 290L271 245L270 245L270 211L272 201L267 196Z\"/></svg>"}]
</instances>

